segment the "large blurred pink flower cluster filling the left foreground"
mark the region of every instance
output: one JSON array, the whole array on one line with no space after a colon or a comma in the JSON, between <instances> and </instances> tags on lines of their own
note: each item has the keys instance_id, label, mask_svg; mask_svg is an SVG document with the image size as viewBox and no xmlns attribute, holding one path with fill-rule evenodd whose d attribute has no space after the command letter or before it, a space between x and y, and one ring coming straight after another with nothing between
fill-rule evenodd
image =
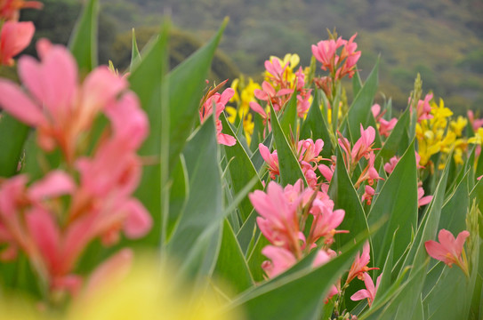
<instances>
[{"instance_id":1,"label":"large blurred pink flower cluster filling the left foreground","mask_svg":"<svg viewBox=\"0 0 483 320\"><path fill-rule=\"evenodd\" d=\"M60 150L60 169L29 184L28 174L0 182L0 242L3 260L25 252L51 292L75 293L81 285L76 262L95 239L112 245L120 232L145 236L149 212L133 191L141 180L136 151L149 132L147 116L125 79L99 67L78 83L67 48L37 43L40 61L21 57L23 86L0 80L0 106L33 126L45 153ZM86 145L96 117L109 120L101 140Z\"/></svg>"}]
</instances>

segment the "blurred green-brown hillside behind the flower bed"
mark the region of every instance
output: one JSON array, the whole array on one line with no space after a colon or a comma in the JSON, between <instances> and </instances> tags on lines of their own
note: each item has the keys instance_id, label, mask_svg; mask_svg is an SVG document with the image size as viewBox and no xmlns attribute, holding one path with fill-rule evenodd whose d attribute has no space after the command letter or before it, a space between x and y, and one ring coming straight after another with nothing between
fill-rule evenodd
<instances>
[{"instance_id":1,"label":"blurred green-brown hillside behind the flower bed","mask_svg":"<svg viewBox=\"0 0 483 320\"><path fill-rule=\"evenodd\" d=\"M78 5L76 0L44 3L44 11L51 4ZM62 12L45 21L63 19L58 33L70 29L65 21L71 20L65 14L69 11ZM481 0L101 0L101 13L100 62L109 58L120 68L130 59L131 28L136 28L142 46L163 14L171 15L177 29L172 65L213 36L229 16L221 42L225 55L219 55L221 62L216 65L221 77L228 70L230 78L237 69L260 78L264 60L287 52L297 52L307 66L310 45L326 39L327 28L336 28L344 38L358 33L356 42L362 51L358 68L363 77L381 55L381 92L392 97L396 107L406 107L419 72L423 89L443 97L458 113L467 108L483 110ZM39 13L26 14L32 19Z\"/></svg>"}]
</instances>

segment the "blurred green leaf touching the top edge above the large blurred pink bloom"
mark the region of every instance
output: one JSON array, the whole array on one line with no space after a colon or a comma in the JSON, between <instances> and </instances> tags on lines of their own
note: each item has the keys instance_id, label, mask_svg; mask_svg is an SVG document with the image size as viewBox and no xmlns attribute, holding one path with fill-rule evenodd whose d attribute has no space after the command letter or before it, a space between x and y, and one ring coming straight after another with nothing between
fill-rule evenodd
<instances>
[{"instance_id":1,"label":"blurred green leaf touching the top edge above the large blurred pink bloom","mask_svg":"<svg viewBox=\"0 0 483 320\"><path fill-rule=\"evenodd\" d=\"M68 48L77 60L81 74L97 66L98 0L88 0L68 41Z\"/></svg>"}]
</instances>

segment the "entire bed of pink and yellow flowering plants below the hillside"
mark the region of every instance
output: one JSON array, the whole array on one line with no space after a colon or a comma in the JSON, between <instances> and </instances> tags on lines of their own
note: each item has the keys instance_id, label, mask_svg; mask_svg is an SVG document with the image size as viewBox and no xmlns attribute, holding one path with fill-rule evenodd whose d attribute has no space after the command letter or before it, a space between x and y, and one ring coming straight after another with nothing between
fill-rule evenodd
<instances>
[{"instance_id":1,"label":"entire bed of pink and yellow flowering plants below the hillside","mask_svg":"<svg viewBox=\"0 0 483 320\"><path fill-rule=\"evenodd\" d=\"M0 1L21 82L0 79L7 315L481 316L483 120L419 75L400 115L374 104L378 62L363 82L357 35L335 32L306 68L272 56L262 84L207 88L226 21L171 72L165 22L122 75L95 65L96 5L69 49L15 61L34 32L18 11L40 4Z\"/></svg>"}]
</instances>

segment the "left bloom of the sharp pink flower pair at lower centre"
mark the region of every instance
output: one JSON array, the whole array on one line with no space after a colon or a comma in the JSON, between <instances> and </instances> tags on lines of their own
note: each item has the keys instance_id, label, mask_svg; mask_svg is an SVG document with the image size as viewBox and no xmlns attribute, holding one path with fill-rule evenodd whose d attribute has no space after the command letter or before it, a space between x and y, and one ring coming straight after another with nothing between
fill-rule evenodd
<instances>
[{"instance_id":1,"label":"left bloom of the sharp pink flower pair at lower centre","mask_svg":"<svg viewBox=\"0 0 483 320\"><path fill-rule=\"evenodd\" d=\"M263 236L271 244L283 247L299 258L302 252L297 208L302 196L297 196L290 187L285 192L276 182L270 181L267 193L255 190L248 197L255 211L261 215L257 217L257 224Z\"/></svg>"}]
</instances>

